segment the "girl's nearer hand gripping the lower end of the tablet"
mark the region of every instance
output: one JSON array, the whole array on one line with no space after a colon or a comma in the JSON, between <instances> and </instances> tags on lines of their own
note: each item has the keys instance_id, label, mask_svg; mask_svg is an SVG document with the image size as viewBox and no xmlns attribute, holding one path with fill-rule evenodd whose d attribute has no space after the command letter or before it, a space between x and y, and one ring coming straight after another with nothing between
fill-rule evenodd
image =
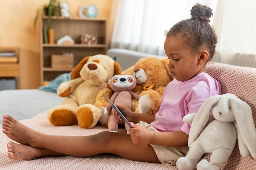
<instances>
[{"instance_id":1,"label":"girl's nearer hand gripping the lower end of the tablet","mask_svg":"<svg viewBox=\"0 0 256 170\"><path fill-rule=\"evenodd\" d=\"M132 143L135 145L148 145L153 139L154 132L149 131L144 126L138 126L130 122L132 128L129 129Z\"/></svg>"}]
</instances>

